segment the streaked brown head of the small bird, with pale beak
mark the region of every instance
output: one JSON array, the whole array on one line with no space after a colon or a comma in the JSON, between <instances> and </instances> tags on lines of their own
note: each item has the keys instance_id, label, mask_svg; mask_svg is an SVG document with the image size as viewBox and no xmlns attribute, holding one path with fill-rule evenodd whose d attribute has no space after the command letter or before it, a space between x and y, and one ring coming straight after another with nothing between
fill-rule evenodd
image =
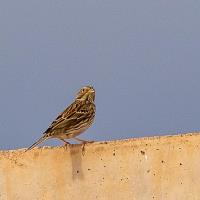
<instances>
[{"instance_id":1,"label":"streaked brown head of the small bird, with pale beak","mask_svg":"<svg viewBox=\"0 0 200 200\"><path fill-rule=\"evenodd\" d=\"M92 86L82 87L76 95L76 100L81 100L81 101L88 100L93 103L95 100L94 88Z\"/></svg>"}]
</instances>

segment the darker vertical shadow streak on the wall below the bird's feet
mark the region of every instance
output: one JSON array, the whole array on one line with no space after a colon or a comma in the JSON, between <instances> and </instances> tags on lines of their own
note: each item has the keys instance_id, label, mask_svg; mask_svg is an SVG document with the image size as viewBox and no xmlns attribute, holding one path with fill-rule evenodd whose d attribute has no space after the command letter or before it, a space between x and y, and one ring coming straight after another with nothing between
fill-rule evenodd
<instances>
[{"instance_id":1,"label":"darker vertical shadow streak on the wall below the bird's feet","mask_svg":"<svg viewBox=\"0 0 200 200\"><path fill-rule=\"evenodd\" d=\"M72 161L72 179L84 179L82 170L82 148L80 145L72 144L70 147L70 155Z\"/></svg>"}]
</instances>

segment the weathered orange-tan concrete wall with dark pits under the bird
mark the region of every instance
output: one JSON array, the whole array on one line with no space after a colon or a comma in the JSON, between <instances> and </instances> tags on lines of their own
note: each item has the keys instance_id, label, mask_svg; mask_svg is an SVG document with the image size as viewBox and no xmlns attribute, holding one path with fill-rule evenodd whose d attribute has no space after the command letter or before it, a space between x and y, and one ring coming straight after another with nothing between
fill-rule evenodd
<instances>
[{"instance_id":1,"label":"weathered orange-tan concrete wall with dark pits under the bird","mask_svg":"<svg viewBox=\"0 0 200 200\"><path fill-rule=\"evenodd\" d=\"M200 135L0 152L0 200L199 200Z\"/></svg>"}]
</instances>

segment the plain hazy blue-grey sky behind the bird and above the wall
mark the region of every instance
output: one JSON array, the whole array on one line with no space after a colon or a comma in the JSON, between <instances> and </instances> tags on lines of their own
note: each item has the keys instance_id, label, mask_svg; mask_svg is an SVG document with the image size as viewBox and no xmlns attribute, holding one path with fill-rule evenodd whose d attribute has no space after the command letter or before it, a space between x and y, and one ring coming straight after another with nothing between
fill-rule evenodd
<instances>
[{"instance_id":1,"label":"plain hazy blue-grey sky behind the bird and above the wall","mask_svg":"<svg viewBox=\"0 0 200 200\"><path fill-rule=\"evenodd\" d=\"M84 85L97 111L82 139L199 131L199 10L195 0L1 1L0 149L30 146Z\"/></svg>"}]
</instances>

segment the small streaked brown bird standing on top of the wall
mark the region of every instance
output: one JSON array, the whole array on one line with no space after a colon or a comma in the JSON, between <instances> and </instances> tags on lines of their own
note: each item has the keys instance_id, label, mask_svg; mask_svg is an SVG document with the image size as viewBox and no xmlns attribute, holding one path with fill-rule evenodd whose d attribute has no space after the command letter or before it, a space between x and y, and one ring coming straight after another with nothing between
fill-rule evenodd
<instances>
[{"instance_id":1,"label":"small streaked brown bird standing on top of the wall","mask_svg":"<svg viewBox=\"0 0 200 200\"><path fill-rule=\"evenodd\" d=\"M65 108L50 124L43 136L25 151L31 150L50 138L60 139L65 145L70 144L65 139L75 139L83 144L91 142L79 139L77 136L92 125L95 112L95 89L92 86L84 86L76 94L73 103Z\"/></svg>"}]
</instances>

